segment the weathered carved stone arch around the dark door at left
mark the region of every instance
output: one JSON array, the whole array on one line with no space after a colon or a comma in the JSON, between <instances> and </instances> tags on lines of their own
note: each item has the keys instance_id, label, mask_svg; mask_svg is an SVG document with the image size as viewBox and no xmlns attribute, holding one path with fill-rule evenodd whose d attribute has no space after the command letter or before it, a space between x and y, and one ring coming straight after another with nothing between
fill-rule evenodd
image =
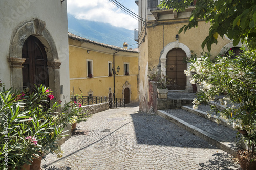
<instances>
[{"instance_id":1,"label":"weathered carved stone arch around the dark door at left","mask_svg":"<svg viewBox=\"0 0 256 170\"><path fill-rule=\"evenodd\" d=\"M53 37L46 29L45 21L38 18L24 21L16 27L12 33L9 47L8 61L11 68L11 86L14 89L23 89L22 64L26 59L22 58L22 48L25 40L30 36L38 38L45 47L49 73L49 87L54 91L56 100L60 100L60 77L58 52Z\"/></svg>"}]
</instances>

